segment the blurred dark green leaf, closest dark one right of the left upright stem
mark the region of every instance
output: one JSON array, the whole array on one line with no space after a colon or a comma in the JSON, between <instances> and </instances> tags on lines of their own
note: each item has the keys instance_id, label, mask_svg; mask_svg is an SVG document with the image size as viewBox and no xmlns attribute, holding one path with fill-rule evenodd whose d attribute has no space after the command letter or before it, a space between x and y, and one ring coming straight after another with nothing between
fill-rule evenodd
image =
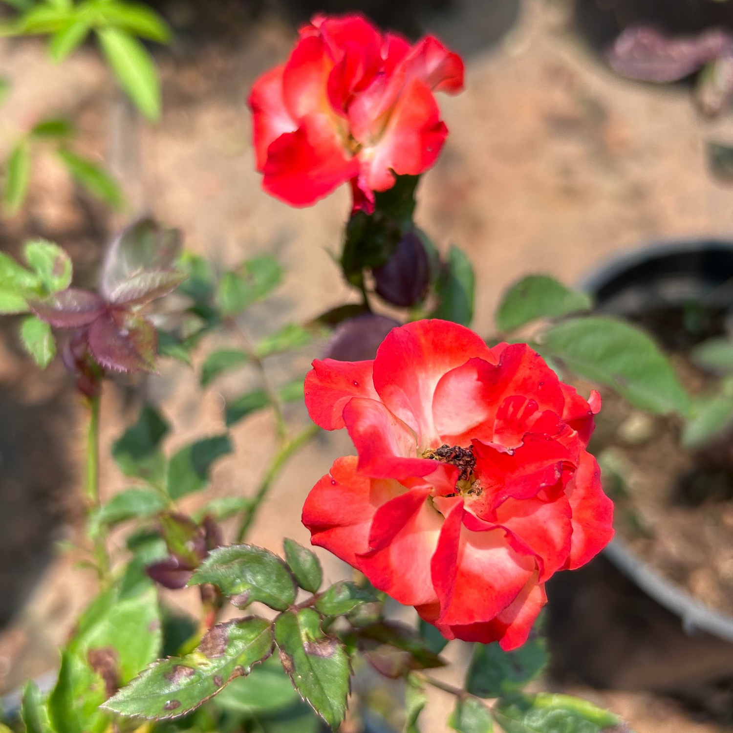
<instances>
[{"instance_id":1,"label":"blurred dark green leaf, closest dark one right of the left upright stem","mask_svg":"<svg viewBox=\"0 0 733 733\"><path fill-rule=\"evenodd\" d=\"M112 456L125 476L155 478L164 459L161 441L169 431L168 423L151 405L144 405L137 422L112 444Z\"/></svg>"}]
</instances>

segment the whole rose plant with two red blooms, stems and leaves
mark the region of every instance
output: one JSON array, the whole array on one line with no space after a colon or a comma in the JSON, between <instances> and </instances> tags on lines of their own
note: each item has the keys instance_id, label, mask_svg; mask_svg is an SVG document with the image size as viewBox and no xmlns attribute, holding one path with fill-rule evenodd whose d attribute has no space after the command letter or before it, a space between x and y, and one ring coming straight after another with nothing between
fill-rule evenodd
<instances>
[{"instance_id":1,"label":"whole rose plant with two red blooms, stems and leaves","mask_svg":"<svg viewBox=\"0 0 733 733\"><path fill-rule=\"evenodd\" d=\"M587 295L547 276L509 289L496 334L468 328L470 262L455 247L439 252L413 220L419 175L447 133L433 92L462 86L463 62L437 40L410 45L358 15L317 16L287 62L254 84L265 190L298 206L342 183L354 194L339 265L355 298L258 342L241 316L279 285L270 257L216 273L150 220L113 241L97 292L71 287L71 262L51 243L29 243L24 265L0 257L0 310L22 314L21 339L42 367L54 329L70 331L65 364L90 417L76 551L100 578L54 688L30 682L21 721L7 723L28 733L335 730L353 672L369 663L403 680L408 733L419 730L428 686L455 696L448 725L462 733L627 730L586 701L523 692L547 662L546 581L613 534L588 450L601 400L572 375L655 413L689 416L690 400L649 336L588 314ZM155 373L160 358L191 364L215 332L226 347L196 361L202 388L236 369L253 369L259 387L226 404L220 433L173 454L166 419L143 405L112 449L134 486L101 502L109 377ZM271 356L314 344L322 358L307 375L273 382ZM303 399L311 421L292 424L284 403ZM184 512L180 499L205 490L232 451L229 427L265 409L277 446L259 485ZM344 428L356 455L337 459L303 507L313 544L355 571L323 587L309 548L285 539L281 557L246 540L287 461L321 429ZM227 545L221 520L231 516ZM120 551L108 531L125 522ZM199 616L174 614L158 586L199 588ZM413 606L417 625L395 621L388 597ZM233 608L247 615L222 621ZM453 639L474 643L460 687L430 672ZM368 719L357 698L343 730Z\"/></svg>"}]
</instances>

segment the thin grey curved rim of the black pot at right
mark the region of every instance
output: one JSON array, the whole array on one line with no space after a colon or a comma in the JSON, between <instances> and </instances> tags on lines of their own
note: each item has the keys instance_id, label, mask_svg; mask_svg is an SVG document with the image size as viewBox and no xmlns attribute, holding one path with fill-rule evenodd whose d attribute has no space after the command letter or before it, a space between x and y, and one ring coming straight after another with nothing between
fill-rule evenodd
<instances>
[{"instance_id":1,"label":"thin grey curved rim of the black pot at right","mask_svg":"<svg viewBox=\"0 0 733 733\"><path fill-rule=\"evenodd\" d=\"M608 257L578 281L577 287L589 293L598 292L604 284L621 275L624 270L641 265L655 257L696 252L705 249L727 250L733 253L732 235L702 237L670 237L652 240L615 257ZM605 556L649 597L682 619L682 627L692 635L706 631L733 643L733 615L718 611L697 600L682 586L665 578L651 564L641 559L627 543L614 537L603 550Z\"/></svg>"}]
</instances>

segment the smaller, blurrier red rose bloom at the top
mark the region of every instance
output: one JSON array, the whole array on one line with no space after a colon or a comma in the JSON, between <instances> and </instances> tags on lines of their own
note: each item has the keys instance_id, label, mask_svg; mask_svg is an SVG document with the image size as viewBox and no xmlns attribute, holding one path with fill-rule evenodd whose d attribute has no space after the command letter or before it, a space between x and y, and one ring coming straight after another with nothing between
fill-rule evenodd
<instances>
[{"instance_id":1,"label":"smaller, blurrier red rose bloom at the top","mask_svg":"<svg viewBox=\"0 0 733 733\"><path fill-rule=\"evenodd\" d=\"M263 188L308 206L351 181L370 211L394 174L435 163L448 129L433 92L461 89L463 61L435 38L410 46L360 15L317 15L249 97Z\"/></svg>"}]
</instances>

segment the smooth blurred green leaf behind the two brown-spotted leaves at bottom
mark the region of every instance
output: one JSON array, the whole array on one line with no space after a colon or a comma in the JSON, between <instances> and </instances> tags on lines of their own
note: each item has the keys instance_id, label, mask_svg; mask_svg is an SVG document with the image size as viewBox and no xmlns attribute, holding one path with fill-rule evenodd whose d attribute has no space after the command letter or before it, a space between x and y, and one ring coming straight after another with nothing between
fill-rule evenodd
<instances>
[{"instance_id":1,"label":"smooth blurred green leaf behind the two brown-spotted leaves at bottom","mask_svg":"<svg viewBox=\"0 0 733 733\"><path fill-rule=\"evenodd\" d=\"M257 665L246 679L235 679L216 696L216 707L242 714L279 712L298 704L300 696L275 657ZM258 716L259 717L259 716Z\"/></svg>"}]
</instances>

